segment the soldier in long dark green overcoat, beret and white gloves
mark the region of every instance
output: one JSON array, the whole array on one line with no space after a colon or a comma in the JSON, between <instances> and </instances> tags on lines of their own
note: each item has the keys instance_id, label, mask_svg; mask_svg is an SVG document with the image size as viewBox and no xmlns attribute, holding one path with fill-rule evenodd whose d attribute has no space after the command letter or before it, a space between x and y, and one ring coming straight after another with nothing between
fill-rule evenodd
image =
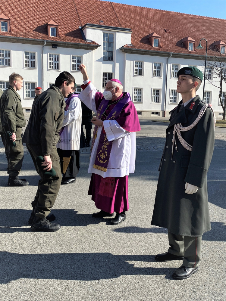
<instances>
[{"instance_id":1,"label":"soldier in long dark green overcoat, beret and white gloves","mask_svg":"<svg viewBox=\"0 0 226 301\"><path fill-rule=\"evenodd\" d=\"M168 229L170 245L155 259L183 260L173 278L186 279L198 271L202 234L211 230L206 175L214 149L215 117L196 96L202 72L184 67L177 76L177 92L183 100L171 111L166 129L152 225ZM183 127L188 128L183 131Z\"/></svg>"}]
</instances>

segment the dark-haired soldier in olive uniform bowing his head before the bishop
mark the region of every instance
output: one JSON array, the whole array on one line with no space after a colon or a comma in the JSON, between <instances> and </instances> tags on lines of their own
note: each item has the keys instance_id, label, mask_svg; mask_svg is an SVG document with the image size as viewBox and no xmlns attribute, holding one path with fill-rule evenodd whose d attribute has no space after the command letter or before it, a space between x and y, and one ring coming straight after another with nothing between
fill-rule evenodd
<instances>
[{"instance_id":1,"label":"dark-haired soldier in olive uniform bowing his head before the bishop","mask_svg":"<svg viewBox=\"0 0 226 301\"><path fill-rule=\"evenodd\" d=\"M36 171L41 177L36 196L31 203L33 210L29 222L32 223L32 231L53 232L60 228L59 224L49 222L49 217L46 219L46 216L51 212L61 185L60 158L56 144L64 119L64 98L72 92L74 83L75 79L70 73L60 73L55 85L36 98L24 132L23 142L26 143ZM36 163L38 156L44 159L42 166ZM43 166L46 166L46 171L54 169L55 176L46 177Z\"/></svg>"}]
</instances>

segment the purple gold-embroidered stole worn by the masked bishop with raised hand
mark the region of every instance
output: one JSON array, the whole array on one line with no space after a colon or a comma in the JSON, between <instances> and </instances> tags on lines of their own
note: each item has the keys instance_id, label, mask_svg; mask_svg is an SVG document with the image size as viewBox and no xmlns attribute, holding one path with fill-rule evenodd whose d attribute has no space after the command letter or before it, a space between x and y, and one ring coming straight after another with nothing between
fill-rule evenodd
<instances>
[{"instance_id":1,"label":"purple gold-embroidered stole worn by the masked bishop with raised hand","mask_svg":"<svg viewBox=\"0 0 226 301\"><path fill-rule=\"evenodd\" d=\"M111 110L111 112L108 114L108 117L105 120L116 120L116 119L118 119L122 109L125 106L125 104L127 104L127 102L129 102L129 101L131 101L130 95L129 95L129 93L126 93L118 101L118 103ZM103 100L101 101L101 103L99 105L97 113L96 113L97 118L101 118L101 116L105 112L108 104L109 104L109 101L106 100L105 98L103 98ZM97 129L98 129L98 126L95 126L94 131L93 131L93 142L92 142L91 151L93 150L93 145L94 145L95 140L96 140ZM99 169L99 170L104 171L104 172L107 171L109 157L110 157L110 154L111 154L112 143L113 143L113 141L108 141L107 135L104 134L103 131L101 131L99 144L98 144L97 152L96 152L96 159L95 159L95 163L93 165L93 168Z\"/></svg>"}]
</instances>

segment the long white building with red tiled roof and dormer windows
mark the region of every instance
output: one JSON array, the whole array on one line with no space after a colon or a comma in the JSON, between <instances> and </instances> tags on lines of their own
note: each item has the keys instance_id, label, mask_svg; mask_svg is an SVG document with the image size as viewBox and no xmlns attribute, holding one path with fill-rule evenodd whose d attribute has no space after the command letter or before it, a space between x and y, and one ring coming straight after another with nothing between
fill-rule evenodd
<instances>
[{"instance_id":1,"label":"long white building with red tiled roof and dormer windows","mask_svg":"<svg viewBox=\"0 0 226 301\"><path fill-rule=\"evenodd\" d=\"M18 3L20 11L23 12L25 4L19 1ZM97 4L101 4L102 11L108 10L109 14L114 14L111 16L113 21L108 18L102 20L95 14L87 13L80 15L79 21L74 18L73 22L70 22L71 28L68 28L67 20L55 13L48 3L48 11L43 10L43 20L34 21L21 14L19 21L26 24L25 33L18 29L17 15L13 9L5 8L0 11L0 88L4 90L8 87L10 73L16 72L23 76L24 87L18 93L24 112L29 112L35 96L34 88L41 86L46 90L64 70L73 74L79 92L83 79L78 67L83 63L87 66L90 80L99 91L103 92L105 79L118 78L124 85L124 91L130 93L140 115L169 116L169 111L180 101L180 95L176 92L177 71L185 66L196 66L204 72L205 57L205 51L196 51L195 48L202 38L199 36L202 28L199 28L198 33L197 30L194 32L193 28L189 29L192 26L186 26L186 29L181 26L177 28L171 20L172 17L174 22L186 23L190 20L194 28L197 24L200 26L199 21L202 19L202 27L207 24L209 26L208 36L205 36L208 44L212 45L208 48L209 57L225 56L226 44L222 42L226 41L225 20L205 19L116 3L114 6L108 6L109 3L89 2L87 10L92 12ZM79 5L83 5L84 2L79 0L76 4L79 11ZM58 1L55 5L58 5ZM125 20L123 17L120 19L120 9L124 10ZM153 23L147 28L142 24L144 21L131 21L138 9L146 19L145 23L154 16L160 16L159 24ZM101 12L96 11L96 14L98 13ZM89 17L91 15L92 17ZM211 29L212 23L214 29ZM80 26L82 24L84 25ZM123 24L127 26L124 27ZM212 79L212 71L209 69L206 71L206 78ZM197 92L201 98L202 90L203 83ZM223 101L225 94L224 85ZM218 95L219 88L206 80L204 100L212 103L217 117L223 115Z\"/></svg>"}]
</instances>

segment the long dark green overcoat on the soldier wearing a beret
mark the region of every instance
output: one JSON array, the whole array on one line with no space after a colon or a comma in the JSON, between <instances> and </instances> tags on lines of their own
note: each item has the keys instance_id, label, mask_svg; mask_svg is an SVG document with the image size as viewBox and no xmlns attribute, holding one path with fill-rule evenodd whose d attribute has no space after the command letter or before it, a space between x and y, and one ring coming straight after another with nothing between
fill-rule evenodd
<instances>
[{"instance_id":1,"label":"long dark green overcoat on the soldier wearing a beret","mask_svg":"<svg viewBox=\"0 0 226 301\"><path fill-rule=\"evenodd\" d=\"M181 102L171 111L166 129L151 224L167 228L173 234L199 237L211 230L206 175L214 149L214 116L208 107L193 129L181 132L184 140L193 146L192 151L182 146L176 134L177 150L174 144L171 160L174 124L191 125L205 105L196 96L179 112ZM193 102L194 106L191 105ZM185 193L186 182L197 186L198 191Z\"/></svg>"}]
</instances>

